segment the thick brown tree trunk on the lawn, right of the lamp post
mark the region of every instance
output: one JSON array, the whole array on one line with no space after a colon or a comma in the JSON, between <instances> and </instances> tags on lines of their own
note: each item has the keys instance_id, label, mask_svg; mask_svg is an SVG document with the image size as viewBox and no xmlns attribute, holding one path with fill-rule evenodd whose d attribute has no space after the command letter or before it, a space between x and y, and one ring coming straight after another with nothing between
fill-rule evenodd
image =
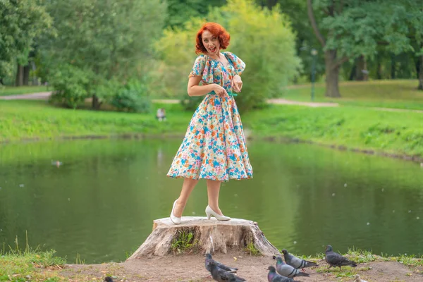
<instances>
[{"instance_id":1,"label":"thick brown tree trunk on the lawn, right of the lamp post","mask_svg":"<svg viewBox=\"0 0 423 282\"><path fill-rule=\"evenodd\" d=\"M326 97L338 98L339 93L339 66L336 61L336 50L324 52L324 63L326 67Z\"/></svg>"}]
</instances>

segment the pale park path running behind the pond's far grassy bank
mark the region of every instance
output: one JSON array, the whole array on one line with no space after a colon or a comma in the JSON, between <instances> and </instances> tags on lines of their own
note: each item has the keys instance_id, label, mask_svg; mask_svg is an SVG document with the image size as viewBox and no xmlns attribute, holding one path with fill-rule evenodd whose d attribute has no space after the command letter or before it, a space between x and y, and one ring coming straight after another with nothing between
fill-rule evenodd
<instances>
[{"instance_id":1,"label":"pale park path running behind the pond's far grassy bank","mask_svg":"<svg viewBox=\"0 0 423 282\"><path fill-rule=\"evenodd\" d=\"M9 95L9 96L0 96L0 99L4 100L47 100L51 96L51 92L38 92L31 94L18 94L18 95ZM153 99L155 103L163 104L178 104L178 99ZM270 104L281 104L281 105L298 105L298 106L309 106L309 107L328 107L328 106L339 106L338 103L327 103L327 102L299 102L292 101L282 98L275 98L267 100ZM410 110L410 109L392 109L392 108L369 108L376 109L378 111L399 111L399 112L408 112L408 113L420 113L423 114L421 110Z\"/></svg>"}]
</instances>

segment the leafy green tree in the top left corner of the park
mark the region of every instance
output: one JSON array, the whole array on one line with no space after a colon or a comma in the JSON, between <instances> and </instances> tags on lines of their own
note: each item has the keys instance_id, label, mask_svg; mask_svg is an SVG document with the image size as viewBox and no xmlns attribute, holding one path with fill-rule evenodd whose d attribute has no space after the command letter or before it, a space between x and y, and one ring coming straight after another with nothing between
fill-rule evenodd
<instances>
[{"instance_id":1,"label":"leafy green tree in the top left corner of the park","mask_svg":"<svg viewBox=\"0 0 423 282\"><path fill-rule=\"evenodd\" d=\"M41 1L0 1L0 78L11 76L27 65L35 37L49 32L51 17ZM18 71L17 85L23 85L23 72Z\"/></svg>"}]
</instances>

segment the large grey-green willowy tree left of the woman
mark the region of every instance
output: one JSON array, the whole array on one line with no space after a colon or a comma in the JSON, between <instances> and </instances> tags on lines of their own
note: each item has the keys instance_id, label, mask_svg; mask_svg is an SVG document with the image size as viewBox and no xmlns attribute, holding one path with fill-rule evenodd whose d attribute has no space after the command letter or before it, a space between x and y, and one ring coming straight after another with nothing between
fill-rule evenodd
<instances>
[{"instance_id":1,"label":"large grey-green willowy tree left of the woman","mask_svg":"<svg viewBox=\"0 0 423 282\"><path fill-rule=\"evenodd\" d=\"M80 73L68 71L72 68L84 71L90 80L85 92L94 109L108 98L97 93L99 85L109 80L125 83L147 72L152 42L166 17L161 0L58 0L47 7L58 36L42 40L45 67L63 67L64 73Z\"/></svg>"}]
</instances>

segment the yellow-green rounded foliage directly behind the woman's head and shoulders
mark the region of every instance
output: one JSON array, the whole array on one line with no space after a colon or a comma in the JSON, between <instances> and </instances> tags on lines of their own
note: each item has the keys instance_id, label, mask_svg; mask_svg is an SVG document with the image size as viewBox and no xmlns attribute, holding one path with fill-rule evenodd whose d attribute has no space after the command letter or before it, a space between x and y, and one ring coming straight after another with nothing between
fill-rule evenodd
<instances>
[{"instance_id":1,"label":"yellow-green rounded foliage directly behind the woman's head and shoulders","mask_svg":"<svg viewBox=\"0 0 423 282\"><path fill-rule=\"evenodd\" d=\"M269 11L250 0L230 0L210 11L207 20L226 27L231 33L228 51L247 65L243 92L235 98L241 109L262 104L298 73L301 65L295 56L295 35L278 8ZM165 30L157 42L156 49L168 66L165 93L186 93L187 76L195 60L195 35L202 23L204 20L192 18L184 28Z\"/></svg>"}]
</instances>

